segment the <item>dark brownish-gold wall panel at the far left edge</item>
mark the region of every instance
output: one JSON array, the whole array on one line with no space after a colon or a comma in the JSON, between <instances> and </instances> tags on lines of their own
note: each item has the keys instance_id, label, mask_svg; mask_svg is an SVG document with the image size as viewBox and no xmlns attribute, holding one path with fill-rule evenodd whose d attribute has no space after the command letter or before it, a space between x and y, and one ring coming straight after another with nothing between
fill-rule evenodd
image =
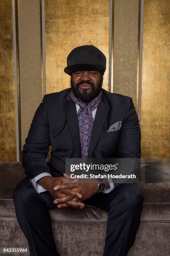
<instances>
[{"instance_id":1,"label":"dark brownish-gold wall panel at the far left edge","mask_svg":"<svg viewBox=\"0 0 170 256\"><path fill-rule=\"evenodd\" d=\"M0 0L0 161L17 161L12 1Z\"/></svg>"}]
</instances>

